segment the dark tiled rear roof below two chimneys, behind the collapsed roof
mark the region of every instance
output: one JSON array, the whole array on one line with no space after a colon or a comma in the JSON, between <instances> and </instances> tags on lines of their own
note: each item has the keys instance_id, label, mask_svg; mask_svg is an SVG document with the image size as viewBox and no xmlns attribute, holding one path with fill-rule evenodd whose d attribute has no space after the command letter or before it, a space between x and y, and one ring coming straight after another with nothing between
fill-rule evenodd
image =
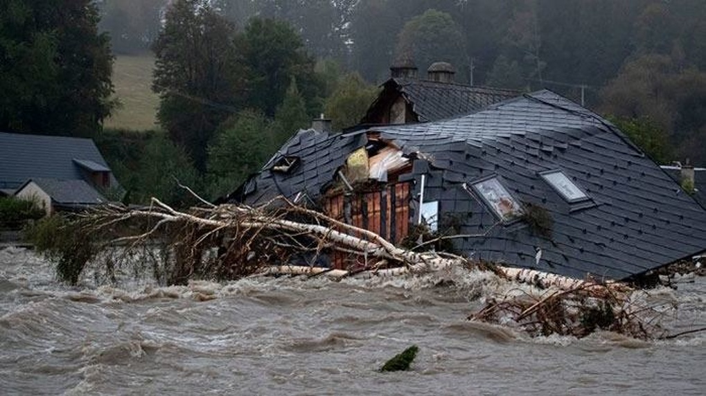
<instances>
[{"instance_id":1,"label":"dark tiled rear roof below two chimneys, behind the collapsed roof","mask_svg":"<svg viewBox=\"0 0 706 396\"><path fill-rule=\"evenodd\" d=\"M482 109L489 104L517 97L520 92L501 88L476 87L458 83L441 83L416 78L390 78L383 92L371 104L363 123L375 122L373 116L385 107L390 95L399 92L412 105L418 121L438 121Z\"/></svg>"}]
</instances>

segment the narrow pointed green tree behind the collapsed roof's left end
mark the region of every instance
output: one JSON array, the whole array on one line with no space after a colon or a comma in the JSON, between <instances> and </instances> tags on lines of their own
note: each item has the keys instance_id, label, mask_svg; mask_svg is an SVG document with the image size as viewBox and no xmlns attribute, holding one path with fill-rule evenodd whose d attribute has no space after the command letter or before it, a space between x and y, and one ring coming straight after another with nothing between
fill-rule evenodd
<instances>
[{"instance_id":1,"label":"narrow pointed green tree behind the collapsed roof's left end","mask_svg":"<svg viewBox=\"0 0 706 396\"><path fill-rule=\"evenodd\" d=\"M280 107L277 107L275 112L275 147L279 147L285 143L299 129L306 128L310 124L311 117L306 114L306 104L304 97L299 94L297 88L297 80L292 78L289 83L285 100L282 101Z\"/></svg>"}]
</instances>

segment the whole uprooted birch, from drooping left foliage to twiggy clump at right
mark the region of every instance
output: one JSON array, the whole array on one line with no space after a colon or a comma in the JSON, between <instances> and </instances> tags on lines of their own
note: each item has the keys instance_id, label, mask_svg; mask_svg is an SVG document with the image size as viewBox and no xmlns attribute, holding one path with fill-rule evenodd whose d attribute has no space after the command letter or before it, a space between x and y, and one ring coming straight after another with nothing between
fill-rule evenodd
<instances>
[{"instance_id":1,"label":"whole uprooted birch, from drooping left foliage to twiggy clump at right","mask_svg":"<svg viewBox=\"0 0 706 396\"><path fill-rule=\"evenodd\" d=\"M455 266L489 270L506 280L530 283L534 292L505 292L486 301L470 320L515 325L531 335L583 337L598 329L638 338L666 334L659 325L664 311L636 298L626 284L575 280L449 253L400 248L378 234L283 198L260 207L205 204L184 211L156 198L149 207L138 209L106 205L80 215L70 226L61 226L72 227L78 235L68 248L45 250L56 260L59 275L73 283L86 263L98 260L104 261L109 278L121 260L141 265L151 261L155 278L164 284L250 275L325 275L340 280ZM44 232L49 239L60 234ZM81 256L71 258L76 246L83 246ZM359 256L364 265L354 270L315 265L318 256L333 251Z\"/></svg>"}]
</instances>

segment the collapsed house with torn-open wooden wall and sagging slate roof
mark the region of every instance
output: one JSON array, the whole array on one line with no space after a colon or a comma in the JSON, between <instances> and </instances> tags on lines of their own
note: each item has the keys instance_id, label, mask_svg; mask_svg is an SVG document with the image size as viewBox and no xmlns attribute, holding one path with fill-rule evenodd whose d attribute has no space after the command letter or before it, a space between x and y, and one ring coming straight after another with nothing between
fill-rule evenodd
<instances>
[{"instance_id":1,"label":"collapsed house with torn-open wooden wall and sagging slate roof","mask_svg":"<svg viewBox=\"0 0 706 396\"><path fill-rule=\"evenodd\" d=\"M453 227L472 258L570 277L625 280L706 250L706 210L615 126L549 90L441 121L299 131L229 198L275 196L395 243L417 224Z\"/></svg>"}]
</instances>

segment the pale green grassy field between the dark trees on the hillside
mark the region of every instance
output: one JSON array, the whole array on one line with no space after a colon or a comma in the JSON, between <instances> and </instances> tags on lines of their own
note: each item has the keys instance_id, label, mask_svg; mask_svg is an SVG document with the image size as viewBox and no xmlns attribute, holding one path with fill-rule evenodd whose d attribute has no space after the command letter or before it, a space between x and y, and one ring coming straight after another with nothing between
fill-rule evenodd
<instances>
[{"instance_id":1,"label":"pale green grassy field between the dark trees on the hillside","mask_svg":"<svg viewBox=\"0 0 706 396\"><path fill-rule=\"evenodd\" d=\"M158 128L155 123L160 100L150 88L154 66L155 57L151 53L116 56L113 84L122 107L105 120L105 127L133 130Z\"/></svg>"}]
</instances>

